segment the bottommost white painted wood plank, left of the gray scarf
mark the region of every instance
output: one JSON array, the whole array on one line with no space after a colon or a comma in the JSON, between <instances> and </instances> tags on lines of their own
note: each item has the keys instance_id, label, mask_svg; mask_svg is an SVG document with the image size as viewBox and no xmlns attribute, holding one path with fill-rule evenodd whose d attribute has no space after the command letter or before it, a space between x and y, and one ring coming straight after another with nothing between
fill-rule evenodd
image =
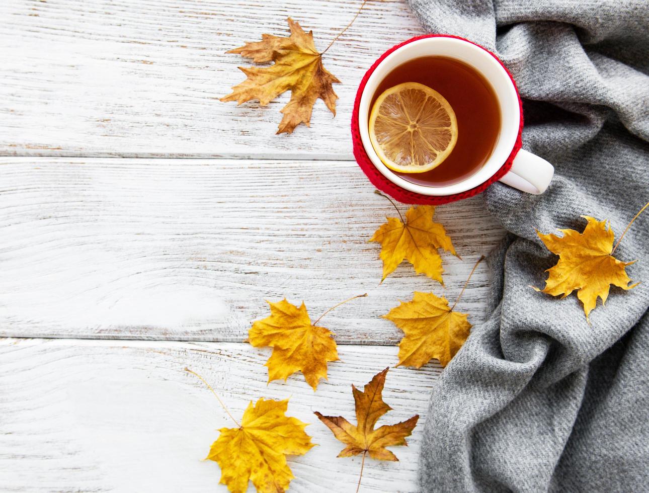
<instances>
[{"instance_id":1,"label":"bottommost white painted wood plank, left of the gray scarf","mask_svg":"<svg viewBox=\"0 0 649 493\"><path fill-rule=\"evenodd\" d=\"M267 354L241 343L130 343L0 340L0 490L3 492L225 492L219 466L201 462L226 413L190 367L236 417L251 400L290 397L288 415L310 423L319 446L289 458L291 492L354 491L360 458L337 459L343 444L313 415L353 420L351 384L361 386L395 361L397 348L345 346L317 392L302 376L266 384ZM400 462L368 459L364 492L414 492L426 404L441 368L393 368L379 424L419 413ZM254 491L250 487L249 492Z\"/></svg>"}]
</instances>

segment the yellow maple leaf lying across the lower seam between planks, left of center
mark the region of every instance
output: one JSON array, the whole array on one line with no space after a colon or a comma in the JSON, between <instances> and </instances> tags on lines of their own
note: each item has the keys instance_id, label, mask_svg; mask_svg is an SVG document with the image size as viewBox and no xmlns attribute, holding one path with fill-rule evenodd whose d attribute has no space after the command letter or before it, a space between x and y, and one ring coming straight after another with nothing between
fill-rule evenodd
<instances>
[{"instance_id":1,"label":"yellow maple leaf lying across the lower seam between planks, left of center","mask_svg":"<svg viewBox=\"0 0 649 493\"><path fill-rule=\"evenodd\" d=\"M306 306L299 308L286 299L272 303L270 317L256 320L249 331L255 346L271 346L273 354L266 362L268 381L286 380L295 372L304 374L306 383L317 388L326 379L327 363L338 360L333 333L311 323Z\"/></svg>"}]
</instances>

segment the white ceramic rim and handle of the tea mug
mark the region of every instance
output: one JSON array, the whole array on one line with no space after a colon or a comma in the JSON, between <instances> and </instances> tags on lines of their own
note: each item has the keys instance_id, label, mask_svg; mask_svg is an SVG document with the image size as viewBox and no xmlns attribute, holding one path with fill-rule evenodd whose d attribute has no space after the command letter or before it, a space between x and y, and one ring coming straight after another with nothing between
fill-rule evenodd
<instances>
[{"instance_id":1,"label":"white ceramic rim and handle of the tea mug","mask_svg":"<svg viewBox=\"0 0 649 493\"><path fill-rule=\"evenodd\" d=\"M474 174L461 182L441 187L418 185L392 173L376 155L369 138L368 114L374 92L380 82L393 69L421 56L447 56L473 67L491 83L500 107L500 134L491 156ZM515 147L521 126L519 95L509 73L493 54L466 40L447 36L421 38L398 47L384 58L367 79L361 94L358 126L361 141L368 158L388 180L397 186L422 195L443 196L462 193L489 181L508 160ZM554 167L545 159L520 149L513 159L511 169L500 182L519 190L543 193L552 180Z\"/></svg>"}]
</instances>

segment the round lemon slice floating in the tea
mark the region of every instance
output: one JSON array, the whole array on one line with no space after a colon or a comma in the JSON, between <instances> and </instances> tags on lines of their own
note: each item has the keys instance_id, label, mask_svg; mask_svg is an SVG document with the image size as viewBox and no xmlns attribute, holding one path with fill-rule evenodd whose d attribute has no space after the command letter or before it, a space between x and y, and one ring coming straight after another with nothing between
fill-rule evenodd
<instances>
[{"instance_id":1,"label":"round lemon slice floating in the tea","mask_svg":"<svg viewBox=\"0 0 649 493\"><path fill-rule=\"evenodd\" d=\"M369 138L393 171L424 173L439 166L458 141L458 120L448 101L417 82L389 88L376 99Z\"/></svg>"}]
</instances>

